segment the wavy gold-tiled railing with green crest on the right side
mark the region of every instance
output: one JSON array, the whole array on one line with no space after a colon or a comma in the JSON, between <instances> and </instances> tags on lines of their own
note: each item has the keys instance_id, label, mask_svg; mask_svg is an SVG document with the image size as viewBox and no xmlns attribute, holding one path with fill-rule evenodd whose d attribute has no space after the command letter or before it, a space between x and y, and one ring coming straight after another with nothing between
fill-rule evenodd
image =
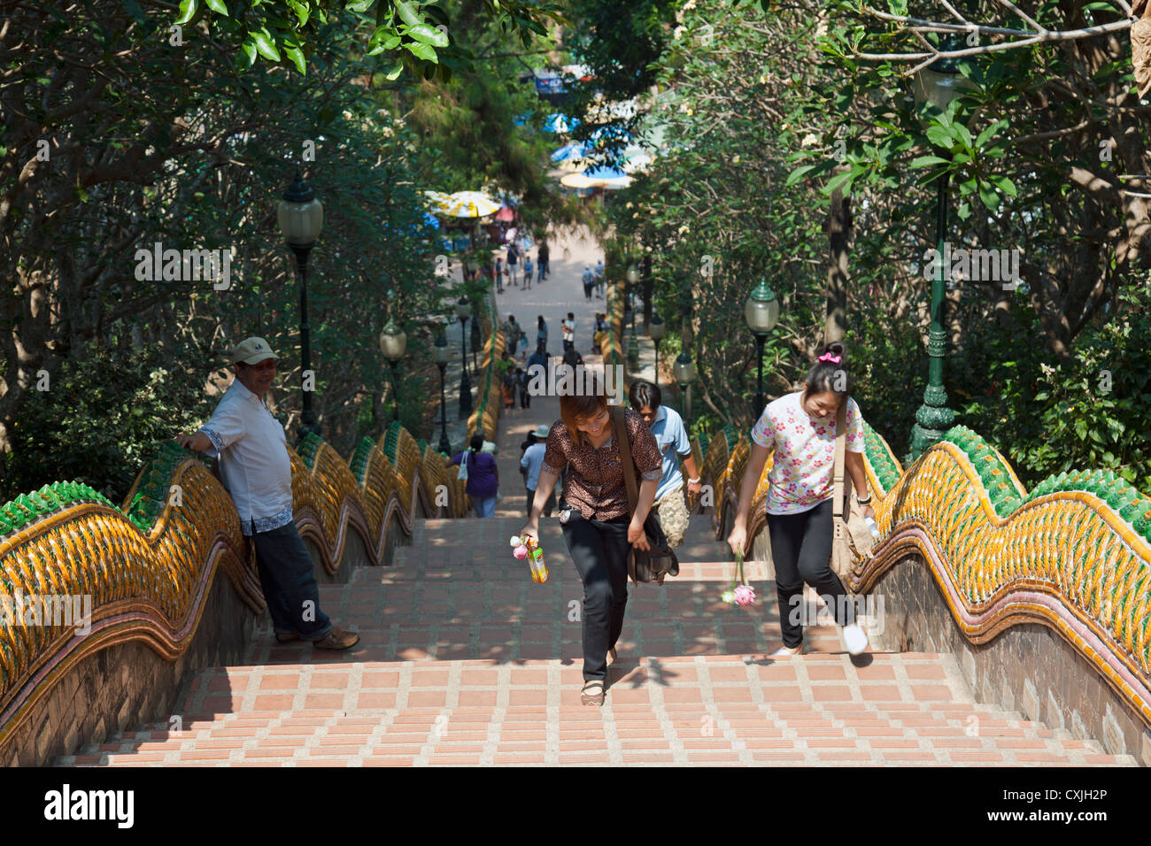
<instances>
[{"instance_id":1,"label":"wavy gold-tiled railing with green crest on the right side","mask_svg":"<svg viewBox=\"0 0 1151 846\"><path fill-rule=\"evenodd\" d=\"M882 532L852 574L870 590L909 555L931 569L974 643L1041 623L1059 632L1151 725L1151 500L1104 472L1051 477L1028 493L997 450L956 426L906 471L866 428L866 471ZM703 481L716 489L717 536L733 517L749 455L711 439ZM767 519L769 456L748 519L748 549Z\"/></svg>"}]
</instances>

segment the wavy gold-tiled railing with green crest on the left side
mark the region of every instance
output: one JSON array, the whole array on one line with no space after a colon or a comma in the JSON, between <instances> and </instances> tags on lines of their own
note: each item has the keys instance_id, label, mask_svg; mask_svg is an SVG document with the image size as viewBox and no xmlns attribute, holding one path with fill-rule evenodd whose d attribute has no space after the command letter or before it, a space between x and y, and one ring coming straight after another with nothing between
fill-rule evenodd
<instances>
[{"instance_id":1,"label":"wavy gold-tiled railing with green crest on the left side","mask_svg":"<svg viewBox=\"0 0 1151 846\"><path fill-rule=\"evenodd\" d=\"M361 443L351 467L314 435L289 450L296 523L329 572L350 529L379 563L397 526L410 535L420 512L462 517L468 508L464 482L443 457L430 448L421 454L396 429L395 462L384 452L388 435ZM0 747L85 656L138 640L176 660L196 634L218 569L253 613L265 609L231 498L174 442L140 471L121 508L61 482L8 503L0 529ZM78 597L90 617L61 610L52 624L33 612L33 597L61 597L61 609L63 597ZM12 618L17 602L23 616Z\"/></svg>"}]
</instances>

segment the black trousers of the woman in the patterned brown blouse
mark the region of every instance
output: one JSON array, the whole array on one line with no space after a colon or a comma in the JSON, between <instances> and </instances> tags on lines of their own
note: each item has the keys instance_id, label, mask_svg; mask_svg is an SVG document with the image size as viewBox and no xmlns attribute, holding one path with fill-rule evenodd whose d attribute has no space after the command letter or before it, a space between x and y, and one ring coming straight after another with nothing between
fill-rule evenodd
<instances>
[{"instance_id":1,"label":"black trousers of the woman in the patterned brown blouse","mask_svg":"<svg viewBox=\"0 0 1151 846\"><path fill-rule=\"evenodd\" d=\"M608 679L608 649L619 640L627 605L626 515L586 520L579 510L563 526L567 552L584 581L584 680Z\"/></svg>"}]
</instances>

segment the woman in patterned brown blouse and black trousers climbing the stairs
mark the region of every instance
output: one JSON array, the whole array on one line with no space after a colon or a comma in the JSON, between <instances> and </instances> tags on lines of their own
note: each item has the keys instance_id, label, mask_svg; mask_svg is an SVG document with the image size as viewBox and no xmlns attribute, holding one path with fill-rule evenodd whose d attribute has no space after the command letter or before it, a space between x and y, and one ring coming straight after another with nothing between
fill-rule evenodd
<instances>
[{"instance_id":1,"label":"woman in patterned brown blouse and black trousers climbing the stairs","mask_svg":"<svg viewBox=\"0 0 1151 846\"><path fill-rule=\"evenodd\" d=\"M616 658L616 641L624 627L627 604L628 544L648 549L647 519L663 462L651 430L638 413L624 412L632 460L640 479L635 513L628 516L624 467L603 380L585 371L579 394L559 397L561 420L548 434L535 498L520 535L540 536L540 511L567 466L559 521L567 551L584 581L584 704L603 704L608 655Z\"/></svg>"}]
</instances>

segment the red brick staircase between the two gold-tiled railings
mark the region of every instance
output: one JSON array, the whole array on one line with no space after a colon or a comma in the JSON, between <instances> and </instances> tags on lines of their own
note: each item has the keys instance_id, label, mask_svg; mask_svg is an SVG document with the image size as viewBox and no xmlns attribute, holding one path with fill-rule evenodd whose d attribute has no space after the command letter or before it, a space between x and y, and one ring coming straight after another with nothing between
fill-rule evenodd
<instances>
[{"instance_id":1,"label":"red brick staircase between the two gold-tiled railings","mask_svg":"<svg viewBox=\"0 0 1151 846\"><path fill-rule=\"evenodd\" d=\"M584 707L582 587L555 519L541 520L551 578L532 584L508 546L521 525L420 523L394 566L320 586L326 612L360 632L355 650L258 632L243 664L193 677L170 719L58 763L1135 763L974 703L947 655L852 661L834 627L815 626L808 654L764 657L780 645L773 585L753 564L755 605L719 600L733 565L707 516L692 518L678 579L632 587L607 704Z\"/></svg>"}]
</instances>

